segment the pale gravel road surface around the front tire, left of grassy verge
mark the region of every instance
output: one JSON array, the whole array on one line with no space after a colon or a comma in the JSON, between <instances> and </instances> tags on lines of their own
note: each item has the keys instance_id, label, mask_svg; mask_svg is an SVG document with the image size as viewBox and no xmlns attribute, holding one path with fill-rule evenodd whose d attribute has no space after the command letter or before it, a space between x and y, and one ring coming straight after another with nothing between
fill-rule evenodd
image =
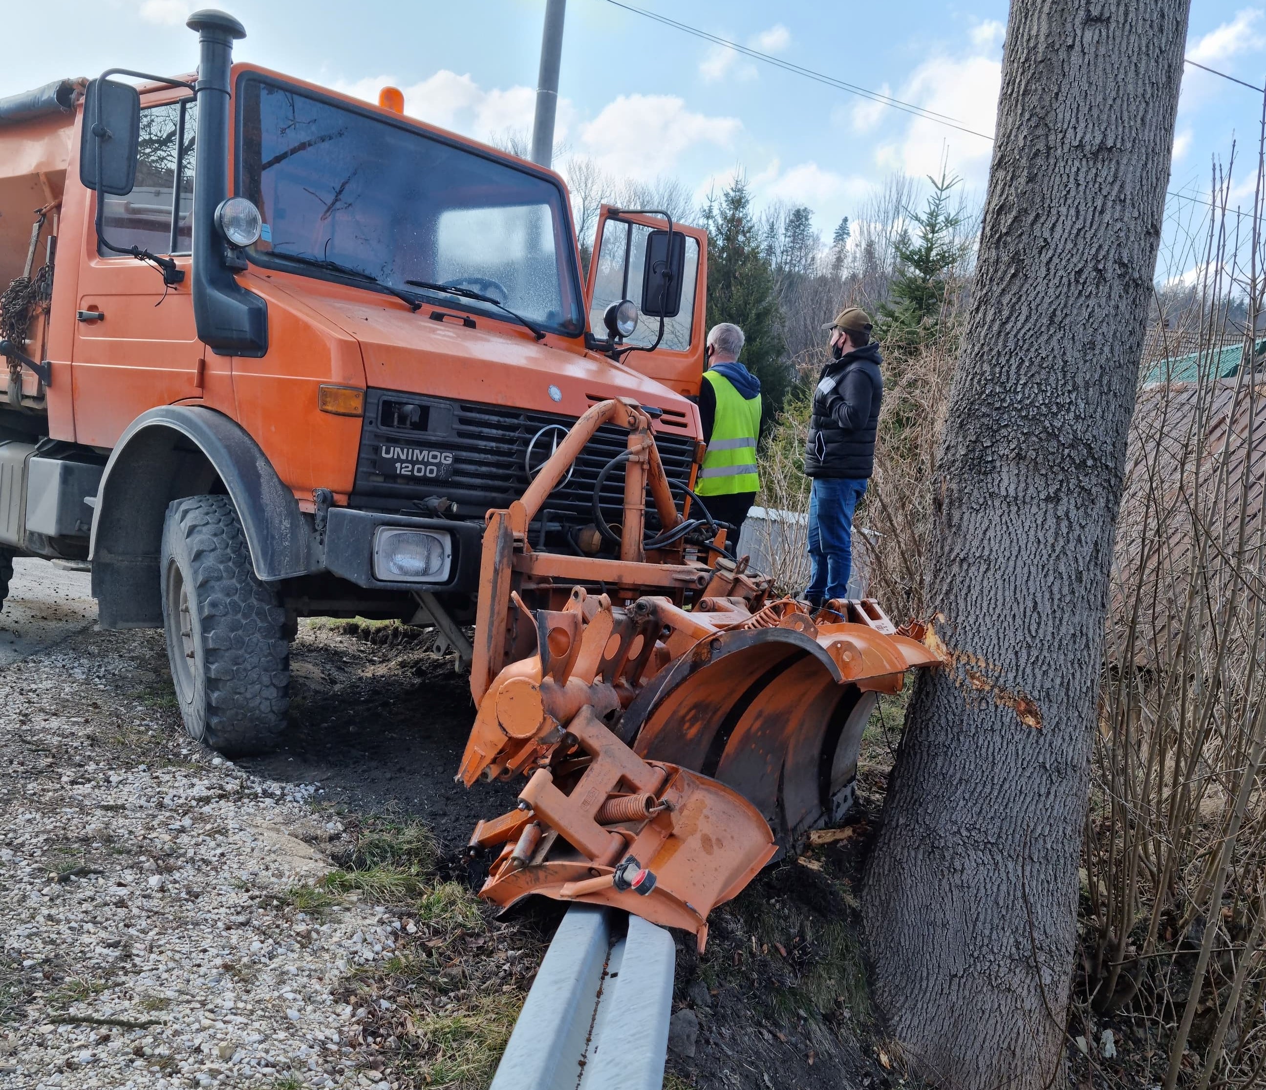
<instances>
[{"instance_id":1,"label":"pale gravel road surface around the front tire, left of grassy verge","mask_svg":"<svg viewBox=\"0 0 1266 1090\"><path fill-rule=\"evenodd\" d=\"M346 844L337 806L314 804L434 804L451 841L495 808L452 785L468 719L419 714L417 662L366 679L361 641L305 627L298 752L238 767L182 733L161 633L99 632L86 573L16 568L0 614L0 1090L395 1085L353 1047L365 1012L333 996L411 924L354 900L309 919L287 891ZM358 685L400 708L356 728L343 689ZM396 737L410 694L415 739ZM354 746L347 723L322 734L332 705L353 709ZM358 775L385 748L395 767Z\"/></svg>"}]
</instances>

